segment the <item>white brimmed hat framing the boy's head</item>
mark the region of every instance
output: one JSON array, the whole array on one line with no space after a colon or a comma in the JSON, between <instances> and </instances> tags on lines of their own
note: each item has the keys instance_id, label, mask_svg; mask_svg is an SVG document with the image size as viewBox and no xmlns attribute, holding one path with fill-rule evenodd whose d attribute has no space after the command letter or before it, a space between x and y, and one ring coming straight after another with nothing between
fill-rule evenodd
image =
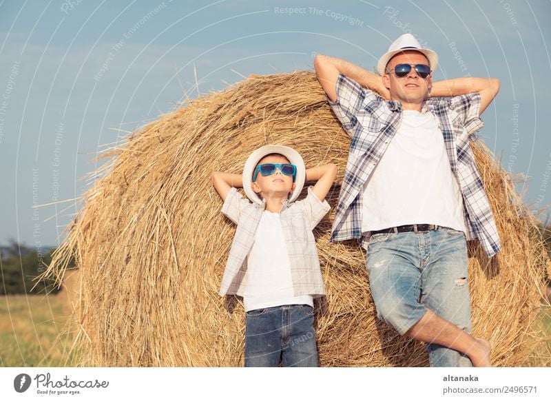
<instances>
[{"instance_id":1,"label":"white brimmed hat framing the boy's head","mask_svg":"<svg viewBox=\"0 0 551 401\"><path fill-rule=\"evenodd\" d=\"M300 192L302 191L302 187L304 187L304 180L306 178L306 167L304 167L304 161L302 160L300 154L296 150L288 146L262 146L255 150L251 154L251 156L247 158L247 161L245 162L245 168L243 169L243 189L245 189L245 194L247 194L247 198L249 198L252 202L258 203L258 205L262 205L262 199L256 194L256 192L253 191L251 184L253 183L253 173L256 165L258 165L258 162L261 158L271 153L282 154L283 156L287 157L291 164L297 166L297 173L295 177L296 187L293 191L293 194L291 195L291 198L289 199L289 202L293 202L293 200L296 200L296 198L298 198Z\"/></svg>"}]
</instances>

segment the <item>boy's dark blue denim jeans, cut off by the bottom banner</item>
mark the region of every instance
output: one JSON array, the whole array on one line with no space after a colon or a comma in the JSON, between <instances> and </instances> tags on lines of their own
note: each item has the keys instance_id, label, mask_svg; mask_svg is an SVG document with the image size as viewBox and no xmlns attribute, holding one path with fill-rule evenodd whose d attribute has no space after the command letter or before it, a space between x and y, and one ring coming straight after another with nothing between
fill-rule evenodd
<instances>
[{"instance_id":1,"label":"boy's dark blue denim jeans, cut off by the bottom banner","mask_svg":"<svg viewBox=\"0 0 551 401\"><path fill-rule=\"evenodd\" d=\"M318 367L313 321L310 305L248 311L245 367Z\"/></svg>"}]
</instances>

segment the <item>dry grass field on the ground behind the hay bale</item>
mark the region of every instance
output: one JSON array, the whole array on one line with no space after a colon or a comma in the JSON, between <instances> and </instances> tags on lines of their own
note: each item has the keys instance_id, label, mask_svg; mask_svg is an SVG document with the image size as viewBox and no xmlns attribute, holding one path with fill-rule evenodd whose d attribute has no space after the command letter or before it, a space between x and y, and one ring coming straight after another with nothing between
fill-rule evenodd
<instances>
[{"instance_id":1,"label":"dry grass field on the ground behind the hay bale","mask_svg":"<svg viewBox=\"0 0 551 401\"><path fill-rule=\"evenodd\" d=\"M59 339L69 315L65 302L60 295L1 296L0 367L73 366L72 336ZM550 341L534 350L526 366L551 367L551 307L542 307L535 325Z\"/></svg>"}]
</instances>

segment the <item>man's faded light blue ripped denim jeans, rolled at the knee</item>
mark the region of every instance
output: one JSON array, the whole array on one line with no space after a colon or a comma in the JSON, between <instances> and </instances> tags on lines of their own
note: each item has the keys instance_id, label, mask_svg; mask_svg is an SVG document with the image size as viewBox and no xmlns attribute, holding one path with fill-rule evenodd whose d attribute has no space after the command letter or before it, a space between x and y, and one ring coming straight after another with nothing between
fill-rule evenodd
<instances>
[{"instance_id":1,"label":"man's faded light blue ripped denim jeans, rolled at the knee","mask_svg":"<svg viewBox=\"0 0 551 401\"><path fill-rule=\"evenodd\" d=\"M377 316L401 335L426 309L471 333L467 246L463 232L440 227L428 232L375 234L367 268ZM430 366L470 367L468 357L427 345Z\"/></svg>"}]
</instances>

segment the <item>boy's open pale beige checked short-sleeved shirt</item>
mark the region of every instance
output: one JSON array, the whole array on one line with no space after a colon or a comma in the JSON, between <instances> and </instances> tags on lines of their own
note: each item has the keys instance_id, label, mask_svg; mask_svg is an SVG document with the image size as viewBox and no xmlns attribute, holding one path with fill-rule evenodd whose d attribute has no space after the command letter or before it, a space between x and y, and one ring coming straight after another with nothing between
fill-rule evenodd
<instances>
[{"instance_id":1,"label":"boy's open pale beige checked short-sleeved shirt","mask_svg":"<svg viewBox=\"0 0 551 401\"><path fill-rule=\"evenodd\" d=\"M247 256L253 246L265 205L265 201L262 205L249 202L235 188L231 188L227 194L222 213L237 224L237 229L218 293L220 296L243 295L247 281ZM325 294L312 229L329 209L329 203L326 200L321 202L312 192L312 187L308 188L308 196L303 200L291 204L287 200L283 201L280 221L291 264L294 296L311 295L316 298Z\"/></svg>"}]
</instances>

